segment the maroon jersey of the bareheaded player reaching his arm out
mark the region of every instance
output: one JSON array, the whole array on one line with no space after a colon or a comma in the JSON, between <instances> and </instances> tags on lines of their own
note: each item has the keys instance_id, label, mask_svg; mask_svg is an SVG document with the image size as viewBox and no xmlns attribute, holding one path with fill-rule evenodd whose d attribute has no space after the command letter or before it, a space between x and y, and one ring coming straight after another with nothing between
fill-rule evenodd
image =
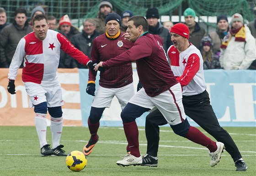
<instances>
[{"instance_id":1,"label":"maroon jersey of the bareheaded player reaching his arm out","mask_svg":"<svg viewBox=\"0 0 256 176\"><path fill-rule=\"evenodd\" d=\"M147 95L154 97L178 83L167 62L162 43L160 36L146 33L135 41L131 49L103 62L102 66L108 68L136 61L139 80Z\"/></svg>"}]
</instances>

